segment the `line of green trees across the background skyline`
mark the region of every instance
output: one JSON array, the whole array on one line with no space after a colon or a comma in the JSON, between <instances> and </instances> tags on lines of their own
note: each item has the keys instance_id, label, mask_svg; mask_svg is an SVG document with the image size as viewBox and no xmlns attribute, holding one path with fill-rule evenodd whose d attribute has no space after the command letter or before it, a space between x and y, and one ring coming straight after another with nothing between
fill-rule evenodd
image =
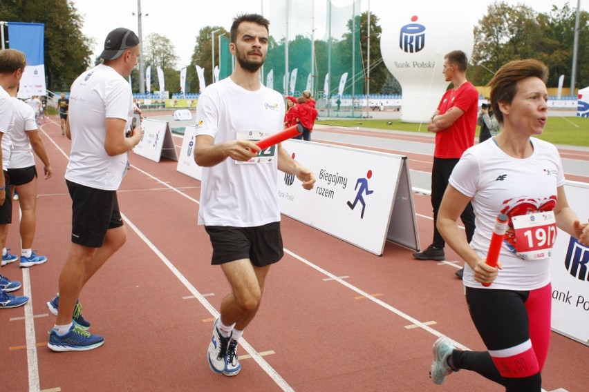
<instances>
[{"instance_id":1,"label":"line of green trees across the background skyline","mask_svg":"<svg viewBox=\"0 0 589 392\"><path fill-rule=\"evenodd\" d=\"M476 86L484 86L492 78L493 73L504 63L513 59L535 58L543 61L550 68L549 87L556 87L560 75L565 75L565 86L570 84L570 72L572 66L573 37L576 10L565 3L563 6L552 6L549 12L535 12L530 6L518 3L511 6L505 1L496 1L487 7L487 12L474 27L474 52L470 59L467 76ZM82 34L83 18L78 13L73 3L68 0L2 0L0 2L0 20L21 21L33 23L45 23L45 66L47 88L49 90L68 90L71 83L84 72L92 63L99 59L91 59L91 38ZM353 26L359 25L359 51L356 72L361 72L361 77L366 75L368 64L366 54L368 50L368 13L364 12L356 17L355 21L348 21L348 32L341 39L332 38L332 41L315 41L315 69L316 77L324 77L326 72L327 46L331 47L330 55L333 61L341 63L341 57L348 56L353 36L357 32ZM581 11L579 23L579 50L577 58L577 88L589 86L589 50L584 50L589 45L589 13ZM221 26L205 26L200 29L194 40L194 50L190 64L187 65L187 92L198 91L198 77L195 65L207 68L205 78L207 83L212 80L212 41L211 33L223 35L227 30ZM380 55L380 35L382 29L379 18L371 14L370 28L370 92L371 94L400 94L400 85L393 75L384 66ZM218 35L216 37L218 37ZM357 35L358 36L358 35ZM10 39L10 37L8 37ZM216 43L217 44L217 43ZM297 61L297 56L306 56L310 52L310 39L297 36L289 41L289 69L300 67L300 75L306 75L311 70L310 63ZM282 84L280 75L283 75L283 56L272 56L275 52L284 52L283 41L273 39L269 44L269 57L267 66L272 66L278 71L279 85ZM356 43L357 45L357 43ZM216 53L219 48L216 48ZM155 68L160 66L164 70L166 89L170 92L180 92L180 68L178 56L174 44L158 33L152 33L144 37L144 66ZM298 55L300 53L300 55ZM217 54L216 54L217 55ZM342 60L342 61L339 61ZM282 74L280 74L282 72ZM333 70L333 74L342 70ZM140 75L134 70L132 77L133 90L138 91ZM351 75L350 75L351 77ZM334 79L332 86L337 84ZM323 81L317 86L323 90ZM275 86L277 83L275 82ZM154 90L153 88L151 89ZM155 89L157 90L157 88ZM356 94L364 94L365 91L356 91ZM346 90L346 93L349 93Z\"/></svg>"}]
</instances>

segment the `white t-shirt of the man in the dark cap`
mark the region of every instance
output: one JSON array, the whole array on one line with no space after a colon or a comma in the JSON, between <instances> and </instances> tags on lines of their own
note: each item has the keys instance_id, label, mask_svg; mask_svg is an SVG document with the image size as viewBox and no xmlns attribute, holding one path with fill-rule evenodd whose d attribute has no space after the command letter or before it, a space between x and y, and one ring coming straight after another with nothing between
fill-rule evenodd
<instances>
[{"instance_id":1,"label":"white t-shirt of the man in the dark cap","mask_svg":"<svg viewBox=\"0 0 589 392\"><path fill-rule=\"evenodd\" d=\"M66 179L91 188L117 190L127 172L127 154L110 157L106 153L106 119L124 119L131 124L132 117L131 86L113 68L99 64L77 77L70 92L72 146Z\"/></svg>"}]
</instances>

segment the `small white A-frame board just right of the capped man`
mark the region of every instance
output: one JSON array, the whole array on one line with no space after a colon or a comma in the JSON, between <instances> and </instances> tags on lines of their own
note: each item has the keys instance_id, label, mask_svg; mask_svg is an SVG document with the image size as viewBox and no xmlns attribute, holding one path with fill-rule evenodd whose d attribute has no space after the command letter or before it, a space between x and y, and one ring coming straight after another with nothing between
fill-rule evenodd
<instances>
[{"instance_id":1,"label":"small white A-frame board just right of the capped man","mask_svg":"<svg viewBox=\"0 0 589 392\"><path fill-rule=\"evenodd\" d=\"M144 134L139 144L133 148L135 154L156 162L162 157L178 161L174 137L167 121L144 119L141 128Z\"/></svg>"}]
</instances>

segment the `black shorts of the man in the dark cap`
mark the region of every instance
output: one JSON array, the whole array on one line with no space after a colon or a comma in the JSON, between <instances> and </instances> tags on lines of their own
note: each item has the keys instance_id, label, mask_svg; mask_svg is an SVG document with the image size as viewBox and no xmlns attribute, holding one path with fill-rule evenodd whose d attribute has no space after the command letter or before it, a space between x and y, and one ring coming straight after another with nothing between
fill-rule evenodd
<instances>
[{"instance_id":1,"label":"black shorts of the man in the dark cap","mask_svg":"<svg viewBox=\"0 0 589 392\"><path fill-rule=\"evenodd\" d=\"M72 242L100 248L106 231L123 225L116 190L91 188L68 181L72 198Z\"/></svg>"}]
</instances>

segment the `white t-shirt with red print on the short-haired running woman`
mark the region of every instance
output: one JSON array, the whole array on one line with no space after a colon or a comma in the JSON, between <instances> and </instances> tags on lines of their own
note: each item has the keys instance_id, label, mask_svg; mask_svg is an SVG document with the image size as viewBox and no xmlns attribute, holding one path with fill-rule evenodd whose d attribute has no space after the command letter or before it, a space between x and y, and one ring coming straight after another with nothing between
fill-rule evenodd
<instances>
[{"instance_id":1,"label":"white t-shirt with red print on the short-haired running woman","mask_svg":"<svg viewBox=\"0 0 589 392\"><path fill-rule=\"evenodd\" d=\"M516 159L505 154L494 138L488 139L466 150L450 176L451 186L472 197L476 228L470 245L481 258L487 257L497 215L509 216L509 228L499 255L503 269L488 288L527 291L550 282L550 258L521 259L512 247L515 242L512 218L554 210L557 187L565 183L557 148L540 139L530 140L534 146L532 155ZM468 264L462 282L465 286L483 288L474 280Z\"/></svg>"}]
</instances>

